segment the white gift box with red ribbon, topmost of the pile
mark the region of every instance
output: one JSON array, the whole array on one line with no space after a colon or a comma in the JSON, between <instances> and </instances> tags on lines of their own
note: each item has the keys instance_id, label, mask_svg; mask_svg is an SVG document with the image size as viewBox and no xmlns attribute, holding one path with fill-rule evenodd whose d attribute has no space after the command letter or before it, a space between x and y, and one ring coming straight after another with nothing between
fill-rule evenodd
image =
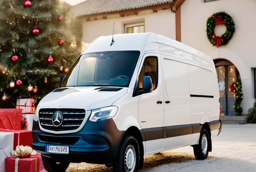
<instances>
[{"instance_id":1,"label":"white gift box with red ribbon, topmost of the pile","mask_svg":"<svg viewBox=\"0 0 256 172\"><path fill-rule=\"evenodd\" d=\"M22 109L22 114L34 114L36 111L35 100L33 98L18 98L16 108Z\"/></svg>"}]
</instances>

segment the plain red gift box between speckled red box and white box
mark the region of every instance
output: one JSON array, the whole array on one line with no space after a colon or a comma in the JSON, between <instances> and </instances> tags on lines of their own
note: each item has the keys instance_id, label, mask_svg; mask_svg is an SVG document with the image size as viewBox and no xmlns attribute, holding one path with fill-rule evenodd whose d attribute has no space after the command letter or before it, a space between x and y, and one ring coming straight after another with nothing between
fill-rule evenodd
<instances>
[{"instance_id":1,"label":"plain red gift box between speckled red box and white box","mask_svg":"<svg viewBox=\"0 0 256 172\"><path fill-rule=\"evenodd\" d=\"M13 150L16 149L16 146L30 146L32 147L32 131L29 130L4 130L0 129L1 132L12 132L14 133L14 142L13 142Z\"/></svg>"}]
</instances>

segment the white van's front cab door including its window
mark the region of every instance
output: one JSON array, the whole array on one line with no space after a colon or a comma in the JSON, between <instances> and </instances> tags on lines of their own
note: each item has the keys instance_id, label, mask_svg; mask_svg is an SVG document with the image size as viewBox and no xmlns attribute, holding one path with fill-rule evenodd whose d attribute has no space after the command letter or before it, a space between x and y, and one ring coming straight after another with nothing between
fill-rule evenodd
<instances>
[{"instance_id":1,"label":"white van's front cab door including its window","mask_svg":"<svg viewBox=\"0 0 256 172\"><path fill-rule=\"evenodd\" d=\"M163 120L164 120L164 92L162 82L162 67L160 55L147 53L144 55L138 76L138 112L140 126L145 135L145 154L163 150ZM143 93L142 80L144 76L152 79L153 92Z\"/></svg>"}]
</instances>

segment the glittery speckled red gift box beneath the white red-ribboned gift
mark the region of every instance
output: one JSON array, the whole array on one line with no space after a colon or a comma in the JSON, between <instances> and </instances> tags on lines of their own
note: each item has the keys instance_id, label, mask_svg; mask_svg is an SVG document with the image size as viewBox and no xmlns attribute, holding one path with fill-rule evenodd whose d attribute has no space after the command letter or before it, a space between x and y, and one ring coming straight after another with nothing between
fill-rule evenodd
<instances>
[{"instance_id":1,"label":"glittery speckled red gift box beneath the white red-ribboned gift","mask_svg":"<svg viewBox=\"0 0 256 172\"><path fill-rule=\"evenodd\" d=\"M21 129L22 109L0 109L0 128Z\"/></svg>"}]
</instances>

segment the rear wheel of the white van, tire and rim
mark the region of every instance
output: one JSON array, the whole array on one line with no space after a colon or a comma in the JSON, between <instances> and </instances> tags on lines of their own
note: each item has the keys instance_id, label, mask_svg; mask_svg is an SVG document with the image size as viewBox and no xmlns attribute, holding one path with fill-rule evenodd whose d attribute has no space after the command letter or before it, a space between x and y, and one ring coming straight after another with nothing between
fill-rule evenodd
<instances>
[{"instance_id":1,"label":"rear wheel of the white van, tire and rim","mask_svg":"<svg viewBox=\"0 0 256 172\"><path fill-rule=\"evenodd\" d=\"M207 158L210 148L209 134L206 129L200 132L200 138L198 144L193 146L194 155L197 160L204 160Z\"/></svg>"}]
</instances>

